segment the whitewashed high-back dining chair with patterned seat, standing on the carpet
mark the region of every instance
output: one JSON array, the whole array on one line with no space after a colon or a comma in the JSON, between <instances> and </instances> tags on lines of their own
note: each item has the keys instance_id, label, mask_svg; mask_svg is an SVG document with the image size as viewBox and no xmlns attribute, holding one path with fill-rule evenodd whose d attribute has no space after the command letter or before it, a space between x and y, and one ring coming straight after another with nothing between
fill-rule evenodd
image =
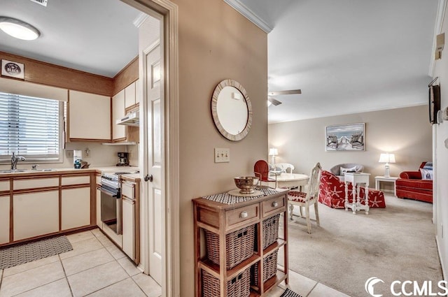
<instances>
[{"instance_id":1,"label":"whitewashed high-back dining chair with patterned seat, standing on the carpet","mask_svg":"<svg viewBox=\"0 0 448 297\"><path fill-rule=\"evenodd\" d=\"M319 226L319 212L318 212L318 196L319 184L321 181L322 167L317 163L309 173L309 181L305 186L304 191L289 191L288 203L290 210L290 219L293 219L294 205L300 207L300 215L302 215L302 207L305 208L305 218L307 219L307 231L311 233L311 218L309 216L309 207L314 204L314 213L316 214L316 225Z\"/></svg>"}]
</instances>

